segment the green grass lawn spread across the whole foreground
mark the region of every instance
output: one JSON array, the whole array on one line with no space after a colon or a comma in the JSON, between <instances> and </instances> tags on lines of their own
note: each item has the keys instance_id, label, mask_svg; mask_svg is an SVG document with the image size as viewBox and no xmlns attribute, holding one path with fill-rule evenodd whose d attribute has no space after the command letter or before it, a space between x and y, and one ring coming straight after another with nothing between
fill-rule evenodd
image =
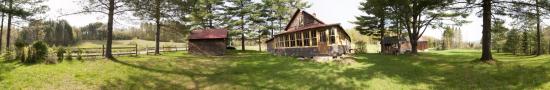
<instances>
[{"instance_id":1,"label":"green grass lawn spread across the whole foreground","mask_svg":"<svg viewBox=\"0 0 550 90\"><path fill-rule=\"evenodd\" d=\"M353 65L255 51L223 57L173 52L55 65L0 61L0 89L550 89L550 56L496 54L498 65L472 63L479 53L361 54Z\"/></svg>"}]
</instances>

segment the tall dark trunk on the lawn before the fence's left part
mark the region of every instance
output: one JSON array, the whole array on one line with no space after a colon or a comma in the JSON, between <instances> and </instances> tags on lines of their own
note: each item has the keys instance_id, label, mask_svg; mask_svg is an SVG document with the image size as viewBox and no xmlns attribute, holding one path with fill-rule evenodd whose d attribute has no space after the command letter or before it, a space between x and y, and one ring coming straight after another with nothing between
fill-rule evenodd
<instances>
[{"instance_id":1,"label":"tall dark trunk on the lawn before the fence's left part","mask_svg":"<svg viewBox=\"0 0 550 90\"><path fill-rule=\"evenodd\" d=\"M105 48L105 58L114 59L112 53L113 44L113 20L115 11L115 0L109 0L109 14L107 21L107 48Z\"/></svg>"}]
</instances>

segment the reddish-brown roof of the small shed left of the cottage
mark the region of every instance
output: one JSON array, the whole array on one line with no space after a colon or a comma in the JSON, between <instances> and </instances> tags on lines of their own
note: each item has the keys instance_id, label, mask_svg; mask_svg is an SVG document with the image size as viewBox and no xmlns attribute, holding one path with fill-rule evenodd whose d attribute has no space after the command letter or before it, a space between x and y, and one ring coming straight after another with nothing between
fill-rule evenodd
<instances>
[{"instance_id":1,"label":"reddish-brown roof of the small shed left of the cottage","mask_svg":"<svg viewBox=\"0 0 550 90\"><path fill-rule=\"evenodd\" d=\"M191 31L189 39L225 39L228 32L226 29L196 29Z\"/></svg>"}]
</instances>

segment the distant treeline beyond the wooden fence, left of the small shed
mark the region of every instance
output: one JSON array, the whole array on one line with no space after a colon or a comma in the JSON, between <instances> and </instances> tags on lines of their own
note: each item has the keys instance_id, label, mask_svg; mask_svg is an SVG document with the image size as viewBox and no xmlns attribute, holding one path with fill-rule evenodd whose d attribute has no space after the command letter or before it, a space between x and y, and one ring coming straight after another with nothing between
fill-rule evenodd
<instances>
[{"instance_id":1,"label":"distant treeline beyond the wooden fence, left of the small shed","mask_svg":"<svg viewBox=\"0 0 550 90\"><path fill-rule=\"evenodd\" d=\"M82 40L106 40L107 30L104 23L91 23L84 27L71 26L66 20L31 21L27 27L18 30L16 42L30 44L44 41L51 46L71 46ZM177 22L166 22L161 41L183 42L188 30ZM113 32L114 40L155 40L154 25L141 24L139 28L117 29Z\"/></svg>"}]
</instances>

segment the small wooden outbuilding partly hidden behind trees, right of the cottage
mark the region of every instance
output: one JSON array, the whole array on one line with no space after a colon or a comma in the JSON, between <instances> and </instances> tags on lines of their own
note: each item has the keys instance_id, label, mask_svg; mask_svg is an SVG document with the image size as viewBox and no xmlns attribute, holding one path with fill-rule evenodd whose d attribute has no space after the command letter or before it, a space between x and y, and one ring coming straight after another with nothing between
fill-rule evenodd
<instances>
[{"instance_id":1,"label":"small wooden outbuilding partly hidden behind trees, right of the cottage","mask_svg":"<svg viewBox=\"0 0 550 90\"><path fill-rule=\"evenodd\" d=\"M385 37L385 38L382 38L382 40L380 41L380 44L383 49L382 53L385 53L385 54L397 54L397 53L405 53L405 52L412 51L412 47L409 40L407 40L404 37L401 37L401 38L397 38L396 36ZM401 46L401 49L399 49L398 45ZM428 49L428 41L422 38L419 39L417 50L426 51L427 49Z\"/></svg>"}]
</instances>

